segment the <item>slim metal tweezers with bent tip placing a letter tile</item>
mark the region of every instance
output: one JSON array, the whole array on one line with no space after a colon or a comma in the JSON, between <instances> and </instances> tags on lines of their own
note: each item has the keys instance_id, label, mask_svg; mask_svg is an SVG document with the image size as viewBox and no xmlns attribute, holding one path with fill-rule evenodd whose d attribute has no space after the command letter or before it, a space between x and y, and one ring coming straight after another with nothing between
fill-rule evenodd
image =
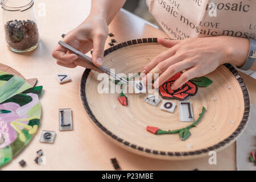
<instances>
[{"instance_id":1,"label":"slim metal tweezers with bent tip placing a letter tile","mask_svg":"<svg viewBox=\"0 0 256 182\"><path fill-rule=\"evenodd\" d=\"M91 64L93 67L96 67L96 65L93 64L92 58L89 56L86 56L84 53L78 51L77 49L73 48L72 46L69 46L68 44L59 41L59 44L63 46L64 48L68 49L69 51L75 53L77 56L79 56L81 59L85 60L87 63ZM100 69L102 72L107 73L108 75L112 76L115 78L115 80L119 80L123 84L133 84L134 81L127 81L125 78L122 78L121 76L117 75L116 73L110 71L109 68L106 68L104 66L97 67Z\"/></svg>"}]
</instances>

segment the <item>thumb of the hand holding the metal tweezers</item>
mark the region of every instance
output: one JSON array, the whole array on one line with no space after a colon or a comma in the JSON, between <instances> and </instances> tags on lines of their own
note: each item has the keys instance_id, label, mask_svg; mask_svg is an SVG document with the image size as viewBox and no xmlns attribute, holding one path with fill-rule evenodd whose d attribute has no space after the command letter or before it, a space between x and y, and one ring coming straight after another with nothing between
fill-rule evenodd
<instances>
[{"instance_id":1,"label":"thumb of the hand holding the metal tweezers","mask_svg":"<svg viewBox=\"0 0 256 182\"><path fill-rule=\"evenodd\" d=\"M93 39L93 63L97 67L101 67L103 64L104 46L105 46L106 36L98 35Z\"/></svg>"}]
</instances>

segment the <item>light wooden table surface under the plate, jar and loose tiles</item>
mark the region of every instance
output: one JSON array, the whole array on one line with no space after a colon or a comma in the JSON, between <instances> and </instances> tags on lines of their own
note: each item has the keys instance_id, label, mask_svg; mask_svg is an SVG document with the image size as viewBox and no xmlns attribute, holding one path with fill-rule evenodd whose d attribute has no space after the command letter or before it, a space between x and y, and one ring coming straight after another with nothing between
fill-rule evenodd
<instances>
[{"instance_id":1,"label":"light wooden table surface under the plate, jar and loose tiles","mask_svg":"<svg viewBox=\"0 0 256 182\"><path fill-rule=\"evenodd\" d=\"M235 144L217 153L217 164L210 165L209 157L186 161L168 161L145 158L123 150L110 142L90 123L80 100L80 79L84 68L69 69L60 67L51 57L51 51L61 40L61 34L72 30L84 20L90 11L90 0L55 0L47 2L46 16L39 16L40 3L37 0L35 12L40 28L39 47L30 53L14 53L5 45L4 32L0 36L0 63L13 67L26 78L38 78L43 85L42 120L38 132L31 143L16 158L3 167L3 170L113 170L110 158L117 158L123 170L235 170ZM42 4L41 4L42 5ZM71 8L72 7L72 8ZM0 25L3 30L3 25ZM135 38L167 37L167 35L147 24L127 11L121 10L109 26L117 42ZM108 42L106 47L108 48ZM90 54L88 54L90 55ZM72 82L60 85L55 75L68 73ZM256 104L255 80L242 75L249 88L251 104ZM73 111L73 131L59 131L58 109L71 107ZM40 143L42 130L56 132L54 144ZM34 162L36 151L46 152L46 164ZM18 162L26 160L22 168Z\"/></svg>"}]
</instances>

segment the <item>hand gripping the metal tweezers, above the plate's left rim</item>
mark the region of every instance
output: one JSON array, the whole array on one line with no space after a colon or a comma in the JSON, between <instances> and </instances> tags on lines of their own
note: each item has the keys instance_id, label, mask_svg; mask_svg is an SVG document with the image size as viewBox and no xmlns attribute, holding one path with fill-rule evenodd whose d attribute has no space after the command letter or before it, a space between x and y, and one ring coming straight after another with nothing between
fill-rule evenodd
<instances>
[{"instance_id":1,"label":"hand gripping the metal tweezers, above the plate's left rim","mask_svg":"<svg viewBox=\"0 0 256 182\"><path fill-rule=\"evenodd\" d=\"M101 67L103 64L104 46L108 37L108 23L100 17L88 17L80 26L68 32L63 42L69 44L82 53L87 53L93 48L92 60L94 65ZM75 68L77 65L88 69L99 71L96 67L87 64L86 61L77 57L75 53L68 51L59 44L52 52L56 63L68 68Z\"/></svg>"}]
</instances>

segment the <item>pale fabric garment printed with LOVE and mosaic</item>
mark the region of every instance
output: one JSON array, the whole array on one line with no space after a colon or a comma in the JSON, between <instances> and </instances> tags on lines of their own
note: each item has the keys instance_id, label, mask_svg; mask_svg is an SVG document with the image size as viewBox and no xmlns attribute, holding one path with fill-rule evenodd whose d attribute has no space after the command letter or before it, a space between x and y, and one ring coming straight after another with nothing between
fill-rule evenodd
<instances>
[{"instance_id":1,"label":"pale fabric garment printed with LOVE and mosaic","mask_svg":"<svg viewBox=\"0 0 256 182\"><path fill-rule=\"evenodd\" d=\"M146 0L172 39L236 36L256 40L255 0Z\"/></svg>"}]
</instances>

